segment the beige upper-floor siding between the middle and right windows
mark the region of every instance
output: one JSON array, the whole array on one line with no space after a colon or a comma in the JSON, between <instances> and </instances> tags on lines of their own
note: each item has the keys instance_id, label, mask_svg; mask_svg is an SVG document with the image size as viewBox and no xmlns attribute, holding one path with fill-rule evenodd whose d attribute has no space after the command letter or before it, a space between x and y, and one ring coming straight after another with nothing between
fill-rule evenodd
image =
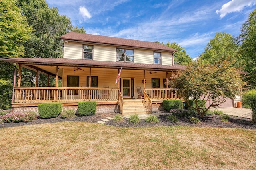
<instances>
[{"instance_id":1,"label":"beige upper-floor siding between the middle and right windows","mask_svg":"<svg viewBox=\"0 0 256 170\"><path fill-rule=\"evenodd\" d=\"M134 63L154 64L154 53L149 50L134 50Z\"/></svg>"}]
</instances>

